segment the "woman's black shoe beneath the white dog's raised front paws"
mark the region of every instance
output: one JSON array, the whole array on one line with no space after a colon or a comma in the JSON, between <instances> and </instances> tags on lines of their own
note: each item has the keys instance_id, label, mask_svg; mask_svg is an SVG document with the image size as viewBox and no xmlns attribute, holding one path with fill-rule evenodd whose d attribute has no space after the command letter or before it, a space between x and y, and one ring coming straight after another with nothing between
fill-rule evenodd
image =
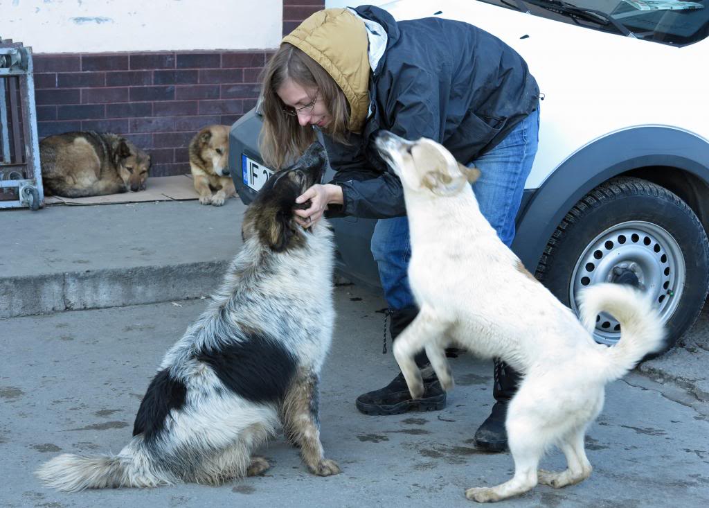
<instances>
[{"instance_id":1,"label":"woman's black shoe beneath the white dog's raised front paws","mask_svg":"<svg viewBox=\"0 0 709 508\"><path fill-rule=\"evenodd\" d=\"M409 411L440 411L445 407L445 391L435 377L423 380L423 397L412 399L403 374L380 390L357 397L357 409L364 414L402 414Z\"/></svg>"}]
</instances>

